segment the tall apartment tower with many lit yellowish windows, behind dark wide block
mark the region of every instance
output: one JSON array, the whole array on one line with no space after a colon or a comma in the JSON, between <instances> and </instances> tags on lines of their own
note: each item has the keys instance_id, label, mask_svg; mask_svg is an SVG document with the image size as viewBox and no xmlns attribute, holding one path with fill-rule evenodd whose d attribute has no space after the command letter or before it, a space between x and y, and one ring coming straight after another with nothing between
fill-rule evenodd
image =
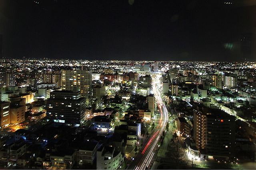
<instances>
[{"instance_id":1,"label":"tall apartment tower with many lit yellowish windows, behind dark wide block","mask_svg":"<svg viewBox=\"0 0 256 170\"><path fill-rule=\"evenodd\" d=\"M92 71L91 70L62 70L62 90L80 88L81 95L86 98L86 104L92 102Z\"/></svg>"}]
</instances>

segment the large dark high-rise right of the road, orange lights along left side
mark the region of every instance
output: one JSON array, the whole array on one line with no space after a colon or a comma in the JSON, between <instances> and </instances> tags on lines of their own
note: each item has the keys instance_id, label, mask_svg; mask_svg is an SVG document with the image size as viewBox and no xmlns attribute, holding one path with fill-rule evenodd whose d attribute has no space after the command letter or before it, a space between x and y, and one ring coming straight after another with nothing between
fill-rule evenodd
<instances>
[{"instance_id":1,"label":"large dark high-rise right of the road, orange lights along left side","mask_svg":"<svg viewBox=\"0 0 256 170\"><path fill-rule=\"evenodd\" d=\"M235 129L235 117L220 109L194 111L194 140L201 158L234 155Z\"/></svg>"}]
</instances>

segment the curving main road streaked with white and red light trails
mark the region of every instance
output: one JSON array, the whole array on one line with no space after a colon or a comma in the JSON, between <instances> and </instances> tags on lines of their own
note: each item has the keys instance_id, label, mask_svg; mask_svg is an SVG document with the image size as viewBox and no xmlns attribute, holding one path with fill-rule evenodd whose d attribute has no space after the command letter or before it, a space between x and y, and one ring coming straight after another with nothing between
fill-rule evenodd
<instances>
[{"instance_id":1,"label":"curving main road streaked with white and red light trails","mask_svg":"<svg viewBox=\"0 0 256 170\"><path fill-rule=\"evenodd\" d=\"M163 103L161 94L156 85L158 82L156 81L157 80L153 81L152 87L156 102L160 108L161 116L160 119L156 119L156 125L152 130L152 133L150 133L146 143L143 145L142 149L139 150L138 154L134 157L134 160L129 164L127 169L144 170L146 167L150 167L156 158L155 152L158 149L157 144L165 129L166 122L168 121L168 111Z\"/></svg>"}]
</instances>

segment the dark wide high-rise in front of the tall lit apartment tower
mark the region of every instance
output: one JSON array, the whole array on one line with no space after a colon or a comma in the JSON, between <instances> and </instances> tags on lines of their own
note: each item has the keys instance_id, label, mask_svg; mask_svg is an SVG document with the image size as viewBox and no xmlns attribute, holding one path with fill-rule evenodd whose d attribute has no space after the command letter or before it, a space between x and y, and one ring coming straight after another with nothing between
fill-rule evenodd
<instances>
[{"instance_id":1,"label":"dark wide high-rise in front of the tall lit apartment tower","mask_svg":"<svg viewBox=\"0 0 256 170\"><path fill-rule=\"evenodd\" d=\"M78 88L73 91L55 90L50 92L50 99L46 100L48 119L67 125L80 125L86 119L86 98L81 97Z\"/></svg>"}]
</instances>

